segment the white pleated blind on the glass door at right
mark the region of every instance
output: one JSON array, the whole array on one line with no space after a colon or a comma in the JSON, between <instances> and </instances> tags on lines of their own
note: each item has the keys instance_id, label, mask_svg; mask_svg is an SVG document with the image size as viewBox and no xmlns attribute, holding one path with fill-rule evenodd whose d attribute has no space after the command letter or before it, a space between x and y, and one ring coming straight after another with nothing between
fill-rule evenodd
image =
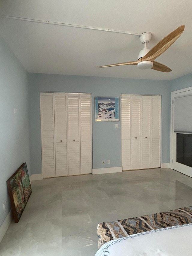
<instances>
[{"instance_id":1,"label":"white pleated blind on the glass door at right","mask_svg":"<svg viewBox=\"0 0 192 256\"><path fill-rule=\"evenodd\" d=\"M192 95L174 99L174 131L192 133Z\"/></svg>"}]
</instances>

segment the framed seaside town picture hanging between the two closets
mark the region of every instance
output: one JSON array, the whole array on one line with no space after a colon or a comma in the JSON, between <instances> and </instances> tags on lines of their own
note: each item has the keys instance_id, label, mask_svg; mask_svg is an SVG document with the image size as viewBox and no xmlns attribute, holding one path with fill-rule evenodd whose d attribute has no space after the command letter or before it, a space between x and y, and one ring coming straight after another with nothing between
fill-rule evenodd
<instances>
[{"instance_id":1,"label":"framed seaside town picture hanging between the two closets","mask_svg":"<svg viewBox=\"0 0 192 256\"><path fill-rule=\"evenodd\" d=\"M119 121L119 97L95 97L95 122Z\"/></svg>"}]
</instances>

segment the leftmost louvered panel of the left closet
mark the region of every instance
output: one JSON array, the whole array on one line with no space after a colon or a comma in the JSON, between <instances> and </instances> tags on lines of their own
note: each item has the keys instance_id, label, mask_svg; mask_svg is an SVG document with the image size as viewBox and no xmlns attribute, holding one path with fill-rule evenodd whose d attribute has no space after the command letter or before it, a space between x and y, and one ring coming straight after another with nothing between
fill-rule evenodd
<instances>
[{"instance_id":1,"label":"leftmost louvered panel of the left closet","mask_svg":"<svg viewBox=\"0 0 192 256\"><path fill-rule=\"evenodd\" d=\"M53 93L41 93L41 149L44 178L55 176L55 127Z\"/></svg>"}]
</instances>

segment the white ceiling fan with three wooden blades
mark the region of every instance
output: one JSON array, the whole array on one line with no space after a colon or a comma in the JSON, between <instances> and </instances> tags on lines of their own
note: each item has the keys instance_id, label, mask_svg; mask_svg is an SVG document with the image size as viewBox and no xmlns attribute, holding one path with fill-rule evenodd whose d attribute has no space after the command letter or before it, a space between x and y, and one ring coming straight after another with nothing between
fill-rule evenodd
<instances>
[{"instance_id":1,"label":"white ceiling fan with three wooden blades","mask_svg":"<svg viewBox=\"0 0 192 256\"><path fill-rule=\"evenodd\" d=\"M183 33L184 25L180 26L179 28L175 29L169 35L164 37L161 41L158 42L151 50L147 48L147 44L151 40L151 33L145 32L140 35L140 41L144 44L143 50L140 51L138 60L131 61L131 62L123 62L123 63L116 63L110 64L95 68L106 68L106 67L113 67L113 66L123 66L123 65L137 65L139 69L147 69L152 68L157 71L161 72L170 72L172 71L167 66L154 61L157 57L159 57L162 53L164 53Z\"/></svg>"}]
</instances>

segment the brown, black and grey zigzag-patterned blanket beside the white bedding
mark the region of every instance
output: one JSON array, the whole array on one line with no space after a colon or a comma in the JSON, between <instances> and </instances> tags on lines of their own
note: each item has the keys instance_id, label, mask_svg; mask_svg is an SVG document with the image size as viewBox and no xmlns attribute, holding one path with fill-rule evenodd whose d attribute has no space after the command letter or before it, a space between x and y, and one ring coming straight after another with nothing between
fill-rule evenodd
<instances>
[{"instance_id":1,"label":"brown, black and grey zigzag-patterned blanket beside the white bedding","mask_svg":"<svg viewBox=\"0 0 192 256\"><path fill-rule=\"evenodd\" d=\"M97 228L98 247L100 248L104 243L120 237L188 223L192 223L192 206L136 218L99 223Z\"/></svg>"}]
</instances>

